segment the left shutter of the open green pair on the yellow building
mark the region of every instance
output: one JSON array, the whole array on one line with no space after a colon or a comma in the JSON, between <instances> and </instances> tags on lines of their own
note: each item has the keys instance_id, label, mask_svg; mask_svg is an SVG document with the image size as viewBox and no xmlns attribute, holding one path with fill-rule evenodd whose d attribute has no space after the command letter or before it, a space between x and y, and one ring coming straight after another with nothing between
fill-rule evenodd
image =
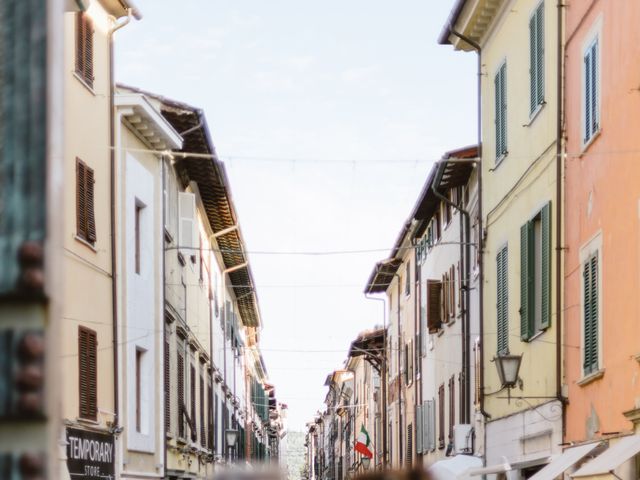
<instances>
[{"instance_id":1,"label":"left shutter of the open green pair on the yellow building","mask_svg":"<svg viewBox=\"0 0 640 480\"><path fill-rule=\"evenodd\" d=\"M520 337L525 341L534 333L533 250L533 222L529 221L520 228Z\"/></svg>"}]
</instances>

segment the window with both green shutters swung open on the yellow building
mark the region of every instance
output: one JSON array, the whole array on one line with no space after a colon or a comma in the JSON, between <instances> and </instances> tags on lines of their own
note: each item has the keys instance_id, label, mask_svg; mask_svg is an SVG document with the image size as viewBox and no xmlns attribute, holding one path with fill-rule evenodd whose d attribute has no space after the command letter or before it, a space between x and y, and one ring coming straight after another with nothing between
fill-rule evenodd
<instances>
[{"instance_id":1,"label":"window with both green shutters swung open on the yellow building","mask_svg":"<svg viewBox=\"0 0 640 480\"><path fill-rule=\"evenodd\" d=\"M551 324L551 203L520 229L520 336Z\"/></svg>"}]
</instances>

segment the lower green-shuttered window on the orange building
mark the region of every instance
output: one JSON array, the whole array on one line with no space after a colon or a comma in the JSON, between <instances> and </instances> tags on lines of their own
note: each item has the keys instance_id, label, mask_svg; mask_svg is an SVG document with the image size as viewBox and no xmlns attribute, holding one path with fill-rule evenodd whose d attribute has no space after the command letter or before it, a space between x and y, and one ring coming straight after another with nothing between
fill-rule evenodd
<instances>
[{"instance_id":1,"label":"lower green-shuttered window on the orange building","mask_svg":"<svg viewBox=\"0 0 640 480\"><path fill-rule=\"evenodd\" d=\"M585 375L596 372L598 361L598 254L583 265L583 370Z\"/></svg>"}]
</instances>

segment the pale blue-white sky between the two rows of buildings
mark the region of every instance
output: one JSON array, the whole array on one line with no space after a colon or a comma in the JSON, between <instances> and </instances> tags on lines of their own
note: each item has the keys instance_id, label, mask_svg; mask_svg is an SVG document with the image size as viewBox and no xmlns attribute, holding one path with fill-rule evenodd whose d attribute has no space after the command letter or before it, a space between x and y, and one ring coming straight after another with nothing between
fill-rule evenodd
<instances>
[{"instance_id":1,"label":"pale blue-white sky between the two rows of buildings","mask_svg":"<svg viewBox=\"0 0 640 480\"><path fill-rule=\"evenodd\" d=\"M136 4L117 80L204 109L250 251L382 249L250 255L267 370L303 429L382 323L362 291L431 162L475 141L475 56L437 44L453 0Z\"/></svg>"}]
</instances>

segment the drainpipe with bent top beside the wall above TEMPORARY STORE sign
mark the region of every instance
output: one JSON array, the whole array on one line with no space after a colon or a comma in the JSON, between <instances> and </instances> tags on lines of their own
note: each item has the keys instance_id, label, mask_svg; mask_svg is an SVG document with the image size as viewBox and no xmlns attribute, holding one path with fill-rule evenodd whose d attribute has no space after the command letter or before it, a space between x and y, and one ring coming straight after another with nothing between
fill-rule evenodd
<instances>
[{"instance_id":1,"label":"drainpipe with bent top beside the wall above TEMPORARY STORE sign","mask_svg":"<svg viewBox=\"0 0 640 480\"><path fill-rule=\"evenodd\" d=\"M118 431L120 423L120 388L119 388L119 362L118 355L120 354L118 348L118 276L116 274L117 262L116 262L116 152L115 152L115 77L113 75L114 70L114 54L113 54L113 34L120 30L125 25L131 22L133 13L129 8L127 9L127 17L124 21L115 24L108 34L109 42L109 144L110 149L110 162L109 162L109 195L111 197L110 208L110 227L111 227L111 314L112 314L112 336L113 336L113 430Z\"/></svg>"}]
</instances>

